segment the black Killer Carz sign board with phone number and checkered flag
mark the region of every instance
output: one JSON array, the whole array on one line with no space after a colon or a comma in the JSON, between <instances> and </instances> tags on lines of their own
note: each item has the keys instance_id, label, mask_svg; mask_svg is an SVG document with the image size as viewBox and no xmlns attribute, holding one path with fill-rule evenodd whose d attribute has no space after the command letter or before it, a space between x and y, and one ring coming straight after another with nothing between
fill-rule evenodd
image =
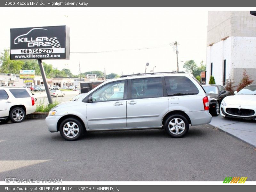
<instances>
[{"instance_id":1,"label":"black Killer Carz sign board with phone number and checkered flag","mask_svg":"<svg viewBox=\"0 0 256 192\"><path fill-rule=\"evenodd\" d=\"M12 28L11 59L69 59L69 28Z\"/></svg>"}]
</instances>

